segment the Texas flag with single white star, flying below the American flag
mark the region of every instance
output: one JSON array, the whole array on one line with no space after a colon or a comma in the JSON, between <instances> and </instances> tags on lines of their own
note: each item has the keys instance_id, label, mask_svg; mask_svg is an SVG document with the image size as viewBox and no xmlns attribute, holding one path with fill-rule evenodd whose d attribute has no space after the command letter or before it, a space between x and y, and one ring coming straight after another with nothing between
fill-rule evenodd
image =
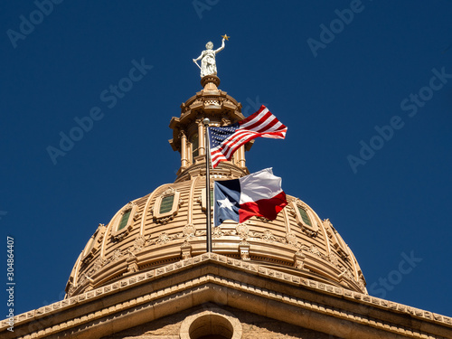
<instances>
[{"instance_id":1,"label":"Texas flag with single white star, flying below the American flag","mask_svg":"<svg viewBox=\"0 0 452 339\"><path fill-rule=\"evenodd\" d=\"M226 220L247 221L253 215L275 220L278 212L287 205L281 178L273 175L271 168L240 179L216 181L213 199L215 226Z\"/></svg>"}]
</instances>

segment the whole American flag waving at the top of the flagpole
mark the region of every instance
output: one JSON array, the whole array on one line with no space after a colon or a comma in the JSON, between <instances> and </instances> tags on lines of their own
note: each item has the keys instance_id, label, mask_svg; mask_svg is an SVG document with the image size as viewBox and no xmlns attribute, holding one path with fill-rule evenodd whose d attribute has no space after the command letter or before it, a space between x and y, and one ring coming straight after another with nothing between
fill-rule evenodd
<instances>
[{"instance_id":1,"label":"whole American flag waving at the top of the flagpole","mask_svg":"<svg viewBox=\"0 0 452 339\"><path fill-rule=\"evenodd\" d=\"M250 117L224 127L209 127L212 167L231 160L237 149L256 137L284 139L287 127L281 124L268 108L262 105Z\"/></svg>"}]
</instances>

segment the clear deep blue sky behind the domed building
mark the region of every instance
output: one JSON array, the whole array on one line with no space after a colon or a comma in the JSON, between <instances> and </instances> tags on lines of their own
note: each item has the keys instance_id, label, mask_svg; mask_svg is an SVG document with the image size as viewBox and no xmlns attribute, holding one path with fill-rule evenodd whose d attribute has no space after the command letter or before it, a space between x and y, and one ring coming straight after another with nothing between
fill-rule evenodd
<instances>
[{"instance_id":1,"label":"clear deep blue sky behind the domed building","mask_svg":"<svg viewBox=\"0 0 452 339\"><path fill-rule=\"evenodd\" d=\"M220 88L288 127L256 141L250 171L273 167L333 222L372 295L452 315L451 1L38 4L0 4L0 274L11 236L16 314L60 300L99 222L174 181L169 121L201 89L192 59L227 33Z\"/></svg>"}]
</instances>

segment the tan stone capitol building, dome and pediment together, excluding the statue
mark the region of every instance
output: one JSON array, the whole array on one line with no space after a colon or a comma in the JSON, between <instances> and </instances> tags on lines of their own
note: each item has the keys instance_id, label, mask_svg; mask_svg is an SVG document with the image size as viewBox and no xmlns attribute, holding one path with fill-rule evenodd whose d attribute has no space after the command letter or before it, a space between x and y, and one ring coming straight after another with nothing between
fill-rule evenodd
<instances>
[{"instance_id":1,"label":"tan stone capitol building, dome and pediment together, excluding the statue","mask_svg":"<svg viewBox=\"0 0 452 339\"><path fill-rule=\"evenodd\" d=\"M219 85L216 76L202 78L203 89L171 119L170 145L181 155L174 183L99 224L72 268L64 300L5 319L0 336L452 338L450 317L369 296L332 223L287 187L287 205L275 220L225 220L207 231L206 186L250 174L245 151L252 143L206 167L204 123L244 118Z\"/></svg>"}]
</instances>

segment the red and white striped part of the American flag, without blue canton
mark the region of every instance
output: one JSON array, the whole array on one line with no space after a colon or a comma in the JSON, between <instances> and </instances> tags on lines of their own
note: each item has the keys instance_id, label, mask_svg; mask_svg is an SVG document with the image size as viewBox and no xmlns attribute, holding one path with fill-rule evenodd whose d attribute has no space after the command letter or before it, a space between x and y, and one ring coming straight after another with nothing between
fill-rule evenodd
<instances>
[{"instance_id":1,"label":"red and white striped part of the American flag, without blue canton","mask_svg":"<svg viewBox=\"0 0 452 339\"><path fill-rule=\"evenodd\" d=\"M259 110L250 117L239 121L237 131L224 139L220 146L211 150L212 166L215 168L221 161L231 160L237 149L256 137L270 137L284 139L287 127L279 122L271 112L262 105Z\"/></svg>"}]
</instances>

